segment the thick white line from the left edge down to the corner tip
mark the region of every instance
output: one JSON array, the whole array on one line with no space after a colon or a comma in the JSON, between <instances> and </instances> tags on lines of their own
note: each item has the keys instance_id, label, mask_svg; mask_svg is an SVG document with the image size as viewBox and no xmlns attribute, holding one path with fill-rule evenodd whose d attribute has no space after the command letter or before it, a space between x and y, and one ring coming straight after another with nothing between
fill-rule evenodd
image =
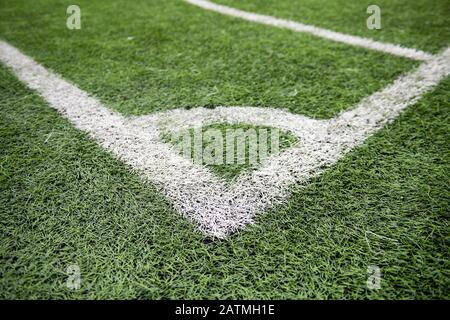
<instances>
[{"instance_id":1,"label":"thick white line from the left edge down to the corner tip","mask_svg":"<svg viewBox=\"0 0 450 320\"><path fill-rule=\"evenodd\" d=\"M3 41L0 41L0 61L75 127L88 132L100 145L161 187L175 209L192 219L202 231L223 237L230 226L235 225L233 229L237 229L236 221L240 218L232 212L221 214L230 209L221 209L220 201L215 198L224 193L225 183L162 143L157 128L133 126L123 116Z\"/></svg>"}]
</instances>

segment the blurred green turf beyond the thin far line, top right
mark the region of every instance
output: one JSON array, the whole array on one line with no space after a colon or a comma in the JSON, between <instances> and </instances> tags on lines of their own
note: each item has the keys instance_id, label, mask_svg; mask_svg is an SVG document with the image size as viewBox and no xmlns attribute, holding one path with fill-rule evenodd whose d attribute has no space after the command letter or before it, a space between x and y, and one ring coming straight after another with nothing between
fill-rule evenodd
<instances>
[{"instance_id":1,"label":"blurred green turf beyond the thin far line, top right","mask_svg":"<svg viewBox=\"0 0 450 320\"><path fill-rule=\"evenodd\" d=\"M235 8L313 24L378 41L438 52L450 41L448 0L213 0ZM381 10L381 30L369 30L370 5Z\"/></svg>"}]
</instances>

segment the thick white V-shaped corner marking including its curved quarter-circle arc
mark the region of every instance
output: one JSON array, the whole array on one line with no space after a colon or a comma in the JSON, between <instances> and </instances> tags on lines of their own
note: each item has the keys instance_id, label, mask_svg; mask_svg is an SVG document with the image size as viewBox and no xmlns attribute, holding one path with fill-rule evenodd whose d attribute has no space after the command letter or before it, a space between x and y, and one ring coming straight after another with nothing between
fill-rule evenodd
<instances>
[{"instance_id":1,"label":"thick white V-shaped corner marking including its curved quarter-circle arc","mask_svg":"<svg viewBox=\"0 0 450 320\"><path fill-rule=\"evenodd\" d=\"M308 119L276 109L240 107L173 110L124 118L3 41L0 61L77 128L88 132L159 186L174 208L193 220L201 231L219 238L251 223L258 212L284 201L289 186L320 174L450 74L450 49L446 49L363 99L353 110L330 120ZM297 134L301 143L270 157L259 170L244 174L229 185L159 140L161 129L210 122L279 127Z\"/></svg>"}]
</instances>

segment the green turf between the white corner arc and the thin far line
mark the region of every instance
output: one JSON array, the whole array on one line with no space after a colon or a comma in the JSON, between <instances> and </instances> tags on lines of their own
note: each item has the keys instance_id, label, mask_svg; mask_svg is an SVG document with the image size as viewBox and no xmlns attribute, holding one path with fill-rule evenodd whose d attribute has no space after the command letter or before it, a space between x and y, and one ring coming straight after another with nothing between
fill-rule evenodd
<instances>
[{"instance_id":1,"label":"green turf between the white corner arc and the thin far line","mask_svg":"<svg viewBox=\"0 0 450 320\"><path fill-rule=\"evenodd\" d=\"M68 30L69 4L0 0L0 37L124 114L237 105L327 118L418 64L181 0L77 1L82 29Z\"/></svg>"}]
</instances>

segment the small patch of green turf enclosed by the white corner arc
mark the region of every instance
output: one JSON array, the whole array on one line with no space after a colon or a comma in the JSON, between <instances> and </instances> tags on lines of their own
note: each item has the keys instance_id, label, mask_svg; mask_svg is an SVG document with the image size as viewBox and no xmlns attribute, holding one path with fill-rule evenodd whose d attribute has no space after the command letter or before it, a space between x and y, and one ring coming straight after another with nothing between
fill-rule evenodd
<instances>
[{"instance_id":1,"label":"small patch of green turf enclosed by the white corner arc","mask_svg":"<svg viewBox=\"0 0 450 320\"><path fill-rule=\"evenodd\" d=\"M218 149L222 149L222 153L215 154L217 151L217 143L218 141L214 137L209 137L208 133L214 133L213 131L217 130L218 133L220 133L220 136L222 137L222 142L219 142ZM211 164L206 160L209 160L209 158L202 157L202 164L206 165L212 172L217 174L219 177L224 178L226 181L233 181L236 179L241 173L248 172L251 170L255 170L259 167L259 165L262 164L264 159L261 159L261 154L259 151L257 151L256 159L250 158L250 138L248 133L254 132L255 137L257 139L256 146L253 148L256 148L256 150L259 150L259 141L261 138L262 130L265 131L265 134L267 134L266 144L267 149L266 155L275 155L276 150L272 150L272 130L277 130L272 127L266 127L266 126L253 126L248 124L212 124L203 126L200 130L195 131L195 129L189 129L187 132L178 132L176 134L170 134L170 133L164 133L162 136L162 141L166 143L171 143L176 148L176 151L180 153L181 155L188 156L190 159L195 161L195 136L201 134L201 153L202 155L205 153L206 148L210 148L212 151L211 154L213 159L218 159L221 163L214 163ZM227 131L233 132L236 134L236 136L233 136L233 141L227 142ZM189 140L188 140L189 139ZM186 141L191 142L191 146L186 148ZM238 158L238 143L239 141L243 142L244 145L244 158L239 159ZM187 143L188 143L187 142ZM282 152L283 150L294 146L298 142L298 139L296 136L294 136L290 132L286 132L283 130L278 130L278 151ZM228 143L232 144L234 147L234 157L233 162L228 163L227 162L227 145ZM262 145L263 146L263 145ZM187 155L187 153L189 153ZM239 161L243 162L240 163Z\"/></svg>"}]
</instances>

